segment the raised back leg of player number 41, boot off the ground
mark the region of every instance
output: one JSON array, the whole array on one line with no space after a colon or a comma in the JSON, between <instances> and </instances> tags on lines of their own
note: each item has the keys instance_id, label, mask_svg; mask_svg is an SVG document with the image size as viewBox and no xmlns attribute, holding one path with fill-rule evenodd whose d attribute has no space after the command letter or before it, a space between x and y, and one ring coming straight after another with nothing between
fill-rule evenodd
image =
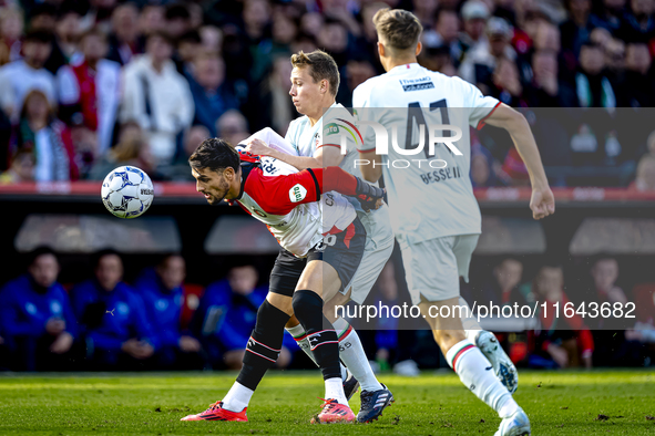
<instances>
[{"instance_id":1,"label":"raised back leg of player number 41, boot off the ground","mask_svg":"<svg viewBox=\"0 0 655 436\"><path fill-rule=\"evenodd\" d=\"M478 239L479 235L458 236L456 237L452 248L457 260L458 273L460 277L464 278L465 282L469 282L469 267L471 264L473 250L475 250L475 246L478 245ZM482 354L484 354L493 366L498 380L500 380L508 391L513 394L519 387L519 373L516 372L516 366L514 366L510 356L505 353L502 346L500 346L495 335L492 332L482 330L480 323L473 313L471 313L469 304L461 297L459 304L467 309L462 311L461 314L467 339L480 349Z\"/></svg>"}]
</instances>

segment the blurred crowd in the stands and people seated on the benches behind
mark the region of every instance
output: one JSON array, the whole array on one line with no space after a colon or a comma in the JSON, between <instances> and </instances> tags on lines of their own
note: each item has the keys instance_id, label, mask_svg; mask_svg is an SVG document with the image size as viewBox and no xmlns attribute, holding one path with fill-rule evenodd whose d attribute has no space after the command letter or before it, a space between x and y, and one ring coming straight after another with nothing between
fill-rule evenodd
<instances>
[{"instance_id":1,"label":"blurred crowd in the stands and people seated on the benches behind","mask_svg":"<svg viewBox=\"0 0 655 436\"><path fill-rule=\"evenodd\" d=\"M294 52L330 53L337 102L350 106L354 89L383 72L371 18L385 7L421 20L423 66L526 114L553 186L655 190L655 0L0 0L0 185L102 180L120 165L193 181L186 159L204 138L286 133L298 116ZM528 185L503 132L471 137L473 186ZM188 282L187 264L205 255L183 250L12 259L24 266L0 274L0 368L237 368L274 257L199 262L212 272ZM470 304L634 302L627 330L613 330L613 316L556 325L540 315L542 329L499 338L521 366L652 365L652 258L565 256L474 257L462 294ZM366 303L409 301L402 277L396 253ZM429 331L375 322L360 336L380 371L447 366ZM285 341L278 366L311 367Z\"/></svg>"}]
</instances>

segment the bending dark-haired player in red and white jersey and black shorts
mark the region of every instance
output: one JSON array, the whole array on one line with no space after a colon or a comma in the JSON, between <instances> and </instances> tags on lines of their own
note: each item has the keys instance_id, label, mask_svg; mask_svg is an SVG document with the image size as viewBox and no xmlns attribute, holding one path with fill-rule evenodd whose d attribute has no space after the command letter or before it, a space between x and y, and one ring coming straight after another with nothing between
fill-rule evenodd
<instances>
[{"instance_id":1,"label":"bending dark-haired player in red and white jersey and black shorts","mask_svg":"<svg viewBox=\"0 0 655 436\"><path fill-rule=\"evenodd\" d=\"M270 274L269 293L233 387L222 402L183 421L247 421L250 397L279 355L291 314L305 328L324 375L327 399L319 422L355 419L341 384L337 334L323 304L350 282L366 240L352 205L340 194L370 209L380 206L383 191L338 167L285 174L282 163L275 164L268 162L264 169L258 157L218 138L204 141L190 157L196 188L207 203L237 203L268 226L285 251Z\"/></svg>"}]
</instances>

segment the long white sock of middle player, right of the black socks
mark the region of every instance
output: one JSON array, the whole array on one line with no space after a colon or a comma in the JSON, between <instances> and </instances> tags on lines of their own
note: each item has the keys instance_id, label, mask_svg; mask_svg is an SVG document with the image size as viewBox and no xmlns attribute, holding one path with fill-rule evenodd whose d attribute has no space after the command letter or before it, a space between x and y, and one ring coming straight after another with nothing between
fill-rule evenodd
<instances>
[{"instance_id":1,"label":"long white sock of middle player, right of the black socks","mask_svg":"<svg viewBox=\"0 0 655 436\"><path fill-rule=\"evenodd\" d=\"M342 318L335 321L334 325L339 338L339 356L357 378L361 390L369 392L382 390L382 385L378 382L373 370L370 367L357 332Z\"/></svg>"}]
</instances>

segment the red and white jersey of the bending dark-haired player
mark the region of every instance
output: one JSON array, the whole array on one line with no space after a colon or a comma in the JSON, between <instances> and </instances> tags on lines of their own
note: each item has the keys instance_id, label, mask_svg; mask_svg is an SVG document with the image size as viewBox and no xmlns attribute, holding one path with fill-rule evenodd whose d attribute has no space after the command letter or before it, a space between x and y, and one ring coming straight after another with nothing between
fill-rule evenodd
<instances>
[{"instance_id":1,"label":"red and white jersey of the bending dark-haired player","mask_svg":"<svg viewBox=\"0 0 655 436\"><path fill-rule=\"evenodd\" d=\"M282 152L297 155L288 142L268 127L250 136L255 137ZM335 227L344 230L356 218L346 197L334 191L329 196L320 195L315 176L307 172L298 172L291 165L267 156L260 158L260 172L254 172L246 176L237 201L268 227L284 249L298 257L307 255L324 235L334 232ZM316 201L317 198L320 201Z\"/></svg>"}]
</instances>

